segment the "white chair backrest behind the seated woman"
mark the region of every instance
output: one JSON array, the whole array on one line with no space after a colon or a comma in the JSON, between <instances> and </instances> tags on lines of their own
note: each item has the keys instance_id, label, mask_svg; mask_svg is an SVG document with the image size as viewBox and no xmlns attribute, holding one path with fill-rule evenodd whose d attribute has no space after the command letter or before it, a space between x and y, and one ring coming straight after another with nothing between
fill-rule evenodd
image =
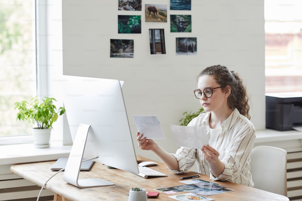
<instances>
[{"instance_id":1,"label":"white chair backrest behind the seated woman","mask_svg":"<svg viewBox=\"0 0 302 201\"><path fill-rule=\"evenodd\" d=\"M287 153L272 146L256 146L251 154L251 174L254 187L287 196Z\"/></svg>"}]
</instances>

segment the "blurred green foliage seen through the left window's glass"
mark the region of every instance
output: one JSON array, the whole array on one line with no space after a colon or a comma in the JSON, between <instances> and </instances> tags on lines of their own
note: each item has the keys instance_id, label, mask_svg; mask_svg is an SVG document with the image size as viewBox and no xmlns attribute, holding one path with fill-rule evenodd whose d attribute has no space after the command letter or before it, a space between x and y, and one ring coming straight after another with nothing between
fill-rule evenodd
<instances>
[{"instance_id":1,"label":"blurred green foliage seen through the left window's glass","mask_svg":"<svg viewBox=\"0 0 302 201\"><path fill-rule=\"evenodd\" d=\"M33 1L0 1L0 137L31 133L14 102L36 95L33 13Z\"/></svg>"}]
</instances>

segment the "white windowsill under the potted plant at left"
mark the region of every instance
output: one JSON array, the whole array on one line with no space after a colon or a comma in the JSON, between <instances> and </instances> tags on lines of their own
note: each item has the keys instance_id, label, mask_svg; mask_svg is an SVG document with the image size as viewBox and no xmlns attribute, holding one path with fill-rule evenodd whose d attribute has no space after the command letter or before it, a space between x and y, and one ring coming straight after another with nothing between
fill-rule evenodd
<instances>
[{"instance_id":1,"label":"white windowsill under the potted plant at left","mask_svg":"<svg viewBox=\"0 0 302 201\"><path fill-rule=\"evenodd\" d=\"M35 148L33 143L0 146L0 165L57 160L68 157L72 145L51 144L49 148Z\"/></svg>"}]
</instances>

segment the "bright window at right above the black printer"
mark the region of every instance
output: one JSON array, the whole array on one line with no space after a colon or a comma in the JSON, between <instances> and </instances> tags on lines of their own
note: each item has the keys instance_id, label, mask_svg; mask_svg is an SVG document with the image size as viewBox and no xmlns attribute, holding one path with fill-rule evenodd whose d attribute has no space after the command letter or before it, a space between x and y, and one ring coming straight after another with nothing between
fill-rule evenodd
<instances>
[{"instance_id":1,"label":"bright window at right above the black printer","mask_svg":"<svg viewBox=\"0 0 302 201\"><path fill-rule=\"evenodd\" d=\"M302 1L265 0L265 92L302 89Z\"/></svg>"}]
</instances>

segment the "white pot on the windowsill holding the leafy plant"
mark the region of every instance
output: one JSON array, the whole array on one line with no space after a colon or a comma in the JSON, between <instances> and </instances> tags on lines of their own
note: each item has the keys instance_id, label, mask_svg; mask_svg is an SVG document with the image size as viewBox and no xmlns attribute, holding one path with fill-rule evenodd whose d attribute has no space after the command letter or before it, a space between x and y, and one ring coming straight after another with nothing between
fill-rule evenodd
<instances>
[{"instance_id":1,"label":"white pot on the windowsill holding the leafy plant","mask_svg":"<svg viewBox=\"0 0 302 201\"><path fill-rule=\"evenodd\" d=\"M34 137L34 146L37 148L49 147L51 130L52 130L51 128L48 129L32 128L31 131Z\"/></svg>"}]
</instances>

